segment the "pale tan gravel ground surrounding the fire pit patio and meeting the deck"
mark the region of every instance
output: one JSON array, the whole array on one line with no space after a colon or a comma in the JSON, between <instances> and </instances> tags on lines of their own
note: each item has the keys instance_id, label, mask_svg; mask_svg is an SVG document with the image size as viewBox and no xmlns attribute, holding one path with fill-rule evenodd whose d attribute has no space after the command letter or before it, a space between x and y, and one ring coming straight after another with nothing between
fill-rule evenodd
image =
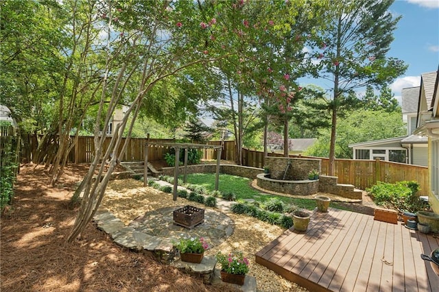
<instances>
[{"instance_id":1,"label":"pale tan gravel ground surrounding the fire pit patio and meeting the deck","mask_svg":"<svg viewBox=\"0 0 439 292\"><path fill-rule=\"evenodd\" d=\"M178 197L172 200L172 195L163 193L151 187L144 187L137 180L115 180L108 185L102 207L107 208L123 223L128 225L139 216L168 206L187 204L186 199ZM208 208L202 204L191 202L191 205ZM284 229L244 215L227 212L235 222L235 231L221 245L206 251L206 255L215 255L217 252L228 253L232 250L241 250L250 260L250 276L257 278L257 287L260 291L307 291L278 276L273 271L254 262L254 254L265 245L280 236Z\"/></svg>"}]
</instances>

